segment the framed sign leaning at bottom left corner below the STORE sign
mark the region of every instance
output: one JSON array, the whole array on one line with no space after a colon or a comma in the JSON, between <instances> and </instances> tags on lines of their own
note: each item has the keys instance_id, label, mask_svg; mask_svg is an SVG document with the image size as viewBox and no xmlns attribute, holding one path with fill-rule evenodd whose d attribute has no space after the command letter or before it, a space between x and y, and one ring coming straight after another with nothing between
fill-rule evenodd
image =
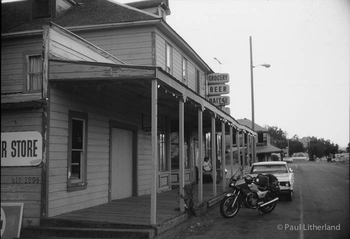
<instances>
[{"instance_id":1,"label":"framed sign leaning at bottom left corner below the STORE sign","mask_svg":"<svg viewBox=\"0 0 350 239\"><path fill-rule=\"evenodd\" d=\"M1 239L19 237L22 214L23 202L1 202Z\"/></svg>"}]
</instances>

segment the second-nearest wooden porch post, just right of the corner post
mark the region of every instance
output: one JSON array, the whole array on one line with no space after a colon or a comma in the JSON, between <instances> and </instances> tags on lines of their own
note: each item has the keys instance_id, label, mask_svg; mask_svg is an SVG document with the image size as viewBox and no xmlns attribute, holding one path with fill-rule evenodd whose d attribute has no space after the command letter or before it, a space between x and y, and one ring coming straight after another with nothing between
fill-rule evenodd
<instances>
[{"instance_id":1,"label":"second-nearest wooden porch post, just right of the corner post","mask_svg":"<svg viewBox=\"0 0 350 239\"><path fill-rule=\"evenodd\" d=\"M179 153L179 193L180 211L184 211L184 133L183 133L183 101L178 100L178 153Z\"/></svg>"}]
</instances>

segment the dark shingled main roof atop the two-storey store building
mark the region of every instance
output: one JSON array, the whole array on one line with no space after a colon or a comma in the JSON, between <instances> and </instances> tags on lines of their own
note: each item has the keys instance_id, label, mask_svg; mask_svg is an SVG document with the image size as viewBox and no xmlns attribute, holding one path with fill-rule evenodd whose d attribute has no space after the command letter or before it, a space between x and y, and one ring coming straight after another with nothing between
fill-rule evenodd
<instances>
[{"instance_id":1,"label":"dark shingled main roof atop the two-storey store building","mask_svg":"<svg viewBox=\"0 0 350 239\"><path fill-rule=\"evenodd\" d=\"M42 25L48 24L49 22L67 28L161 19L160 16L107 0L78 0L76 2L79 4L70 7L64 13L55 18L38 19L31 22L25 17L18 18L19 13L14 17L11 17L11 14L6 14L6 8L7 11L9 11L8 8L15 8L15 4L1 5L1 33L41 30ZM18 3L23 4L23 2ZM27 8L30 8L30 5L27 6ZM21 9L23 9L23 5L21 6Z\"/></svg>"}]
</instances>

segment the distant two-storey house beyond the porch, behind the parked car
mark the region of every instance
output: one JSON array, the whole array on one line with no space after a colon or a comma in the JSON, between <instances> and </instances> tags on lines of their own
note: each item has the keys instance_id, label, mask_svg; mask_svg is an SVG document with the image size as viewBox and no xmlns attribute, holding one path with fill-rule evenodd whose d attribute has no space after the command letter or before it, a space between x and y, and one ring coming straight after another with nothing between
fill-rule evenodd
<instances>
[{"instance_id":1,"label":"distant two-storey house beyond the porch, behind the parked car","mask_svg":"<svg viewBox=\"0 0 350 239\"><path fill-rule=\"evenodd\" d=\"M239 124L251 127L252 122L246 118L237 119L237 121ZM282 153L282 149L271 145L270 134L267 129L255 123L254 130L257 133L256 157L258 162L271 161L272 153Z\"/></svg>"}]
</instances>

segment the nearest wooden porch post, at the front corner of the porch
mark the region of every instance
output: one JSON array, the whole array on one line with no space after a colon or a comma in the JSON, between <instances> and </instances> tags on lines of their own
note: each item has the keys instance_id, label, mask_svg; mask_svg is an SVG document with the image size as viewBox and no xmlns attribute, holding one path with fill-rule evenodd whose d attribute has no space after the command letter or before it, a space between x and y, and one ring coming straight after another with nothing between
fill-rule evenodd
<instances>
[{"instance_id":1,"label":"nearest wooden porch post, at the front corner of the porch","mask_svg":"<svg viewBox=\"0 0 350 239\"><path fill-rule=\"evenodd\" d=\"M151 188L150 188L150 224L156 224L156 196L157 196L157 81L152 80L151 96Z\"/></svg>"}]
</instances>

